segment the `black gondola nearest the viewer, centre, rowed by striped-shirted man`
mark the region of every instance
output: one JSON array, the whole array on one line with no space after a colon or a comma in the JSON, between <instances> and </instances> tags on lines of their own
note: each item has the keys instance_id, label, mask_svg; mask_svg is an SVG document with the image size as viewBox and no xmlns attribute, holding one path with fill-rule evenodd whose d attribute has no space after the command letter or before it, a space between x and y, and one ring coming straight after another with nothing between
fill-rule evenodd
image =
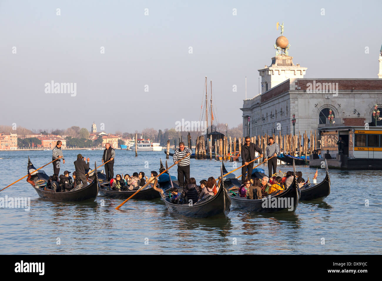
<instances>
[{"instance_id":1,"label":"black gondola nearest the viewer, centre, rowed by striped-shirted man","mask_svg":"<svg viewBox=\"0 0 382 281\"><path fill-rule=\"evenodd\" d=\"M223 175L221 166L220 174ZM220 188L216 195L212 197L207 195L206 199L201 199L191 206L189 204L173 204L171 203L167 192L164 192L157 187L155 187L155 189L161 194L162 200L165 202L165 205L170 212L191 218L209 218L222 214L227 215L230 212L231 200L225 190L224 182L219 180L219 184ZM178 188L178 190L181 192L182 187Z\"/></svg>"}]
</instances>

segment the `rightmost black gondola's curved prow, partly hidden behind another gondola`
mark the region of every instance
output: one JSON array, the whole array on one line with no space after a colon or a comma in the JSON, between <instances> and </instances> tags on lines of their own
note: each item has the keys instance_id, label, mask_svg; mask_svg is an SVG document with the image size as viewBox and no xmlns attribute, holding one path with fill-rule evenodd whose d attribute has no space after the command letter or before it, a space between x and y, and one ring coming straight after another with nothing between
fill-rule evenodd
<instances>
[{"instance_id":1,"label":"rightmost black gondola's curved prow, partly hidden behind another gondola","mask_svg":"<svg viewBox=\"0 0 382 281\"><path fill-rule=\"evenodd\" d=\"M330 194L330 177L328 171L328 165L325 159L326 176L319 184L306 184L301 187L300 201L310 201L325 199Z\"/></svg>"}]
</instances>

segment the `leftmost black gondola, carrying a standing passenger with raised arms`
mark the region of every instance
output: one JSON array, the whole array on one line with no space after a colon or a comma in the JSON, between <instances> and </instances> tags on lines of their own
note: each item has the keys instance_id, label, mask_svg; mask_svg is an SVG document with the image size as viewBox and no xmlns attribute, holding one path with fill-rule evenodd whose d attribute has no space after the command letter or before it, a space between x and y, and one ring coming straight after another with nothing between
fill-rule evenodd
<instances>
[{"instance_id":1,"label":"leftmost black gondola, carrying a standing passenger with raised arms","mask_svg":"<svg viewBox=\"0 0 382 281\"><path fill-rule=\"evenodd\" d=\"M94 166L97 167L97 164L94 163ZM54 192L53 190L44 190L49 180L49 176L42 170L33 173L33 169L36 170L36 168L33 166L29 157L27 169L27 182L32 185L32 187L36 190L37 194L41 198L55 201L94 201L94 199L97 197L99 188L97 175L95 175L94 180L85 187L73 188L73 190L67 192Z\"/></svg>"}]
</instances>

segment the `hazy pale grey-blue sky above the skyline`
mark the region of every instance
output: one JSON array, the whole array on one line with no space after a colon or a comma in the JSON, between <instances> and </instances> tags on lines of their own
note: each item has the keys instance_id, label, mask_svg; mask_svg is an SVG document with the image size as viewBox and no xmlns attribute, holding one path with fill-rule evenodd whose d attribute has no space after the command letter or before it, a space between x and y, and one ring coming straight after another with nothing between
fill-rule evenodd
<instances>
[{"instance_id":1,"label":"hazy pale grey-blue sky above the skyline","mask_svg":"<svg viewBox=\"0 0 382 281\"><path fill-rule=\"evenodd\" d=\"M275 55L278 21L293 62L308 67L305 78L378 78L381 8L381 1L0 0L0 125L171 128L199 120L207 76L215 117L233 127L242 122L244 77L255 96L257 69ZM76 96L45 93L51 80L76 83Z\"/></svg>"}]
</instances>

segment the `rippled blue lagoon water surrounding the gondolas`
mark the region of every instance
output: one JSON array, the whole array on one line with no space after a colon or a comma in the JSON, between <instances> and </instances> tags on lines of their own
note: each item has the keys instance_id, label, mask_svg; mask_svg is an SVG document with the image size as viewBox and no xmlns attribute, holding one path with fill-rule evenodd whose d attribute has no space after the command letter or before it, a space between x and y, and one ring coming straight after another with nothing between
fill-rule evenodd
<instances>
[{"instance_id":1,"label":"rippled blue lagoon water surrounding the gondolas","mask_svg":"<svg viewBox=\"0 0 382 281\"><path fill-rule=\"evenodd\" d=\"M73 172L78 153L90 157L92 165L95 160L101 163L102 151L64 151L61 173ZM52 152L0 152L2 188L26 175L28 155L38 168L51 161ZM164 164L163 152L140 152L136 158L131 151L116 150L114 171L149 175L159 170L159 158ZM229 171L231 165L226 163ZM191 177L197 182L217 177L219 166L217 161L192 159ZM297 167L305 179L308 175L312 179L315 169ZM43 169L53 173L52 164ZM291 166L278 169L288 171ZM176 167L170 171L176 176ZM318 171L319 182L324 175L324 170ZM382 172L331 170L330 177L329 197L299 203L294 214L231 209L227 217L214 219L169 213L160 199L129 200L121 211L114 208L123 200L106 197L92 203L47 201L23 179L0 193L0 197L31 198L30 211L0 208L0 254L381 254ZM366 199L369 206L365 206Z\"/></svg>"}]
</instances>

